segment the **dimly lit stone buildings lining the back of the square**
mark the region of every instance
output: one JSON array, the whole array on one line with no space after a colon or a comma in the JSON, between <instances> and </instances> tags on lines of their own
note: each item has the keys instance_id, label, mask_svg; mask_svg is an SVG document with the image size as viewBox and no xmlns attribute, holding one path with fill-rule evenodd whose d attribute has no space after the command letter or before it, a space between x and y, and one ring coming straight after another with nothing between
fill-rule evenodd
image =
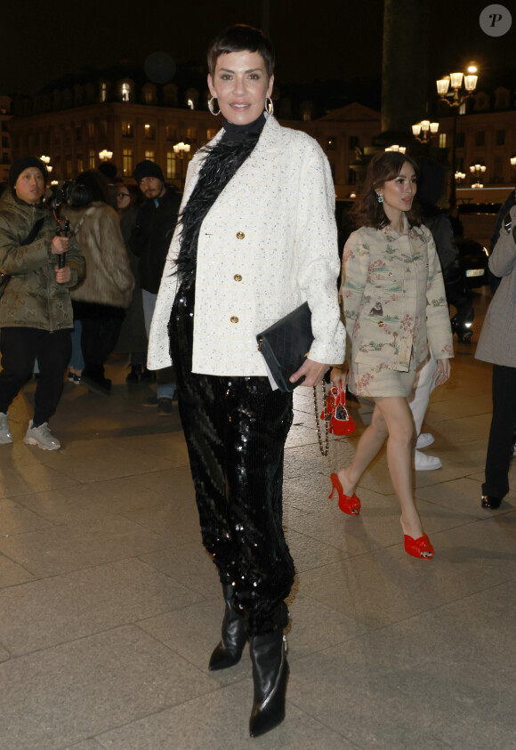
<instances>
[{"instance_id":1,"label":"dimly lit stone buildings lining the back of the square","mask_svg":"<svg viewBox=\"0 0 516 750\"><path fill-rule=\"evenodd\" d=\"M4 101L9 133L2 121L3 169L9 158L32 154L51 159L52 178L65 180L84 169L98 166L101 154L118 167L118 174L131 178L133 167L149 158L164 170L167 181L180 190L188 160L209 141L221 126L220 117L207 110L209 97L204 71L180 76L182 85L150 82L141 69L120 64L115 69L67 77L49 85L33 99L15 97ZM309 133L327 154L335 181L335 195L352 199L363 174L367 157L380 145L380 113L357 102L313 117L310 101L303 101L300 119L292 117L280 93L275 106L282 125ZM440 108L440 109L439 109ZM3 111L3 110L2 110ZM281 117L285 114L287 117ZM436 107L439 133L422 147L407 133L408 153L429 154L448 166L450 179L455 169L466 173L457 186L462 201L500 202L513 185L515 173L510 157L516 155L516 109L509 89L489 95L478 92L467 107L456 113ZM456 128L456 165L451 154ZM181 150L181 143L189 152ZM175 147L175 148L174 148ZM484 188L472 189L471 164L486 165Z\"/></svg>"}]
</instances>

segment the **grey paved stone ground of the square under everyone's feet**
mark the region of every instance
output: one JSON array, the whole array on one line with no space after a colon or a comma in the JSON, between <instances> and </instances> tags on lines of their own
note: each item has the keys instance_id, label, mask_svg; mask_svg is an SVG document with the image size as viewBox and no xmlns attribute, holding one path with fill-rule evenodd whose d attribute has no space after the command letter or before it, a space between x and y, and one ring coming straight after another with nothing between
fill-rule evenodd
<instances>
[{"instance_id":1,"label":"grey paved stone ground of the square under everyone's feet","mask_svg":"<svg viewBox=\"0 0 516 750\"><path fill-rule=\"evenodd\" d=\"M34 384L12 405L0 447L2 750L516 748L516 511L480 508L490 367L473 344L431 398L425 430L443 468L418 472L436 549L403 550L384 452L359 487L358 518L328 501L328 475L359 430L318 455L310 393L295 398L285 524L297 577L290 601L286 722L251 740L252 681L208 673L222 601L198 532L177 411L141 406L125 360L108 399L67 383L52 430L59 452L22 442ZM512 487L516 488L514 470Z\"/></svg>"}]
</instances>

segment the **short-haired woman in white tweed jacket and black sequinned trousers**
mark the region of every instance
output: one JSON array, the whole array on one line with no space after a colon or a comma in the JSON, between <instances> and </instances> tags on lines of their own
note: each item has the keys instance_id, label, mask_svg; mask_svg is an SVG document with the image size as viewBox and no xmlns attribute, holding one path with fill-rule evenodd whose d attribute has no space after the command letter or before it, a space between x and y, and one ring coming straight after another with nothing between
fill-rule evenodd
<instances>
[{"instance_id":1,"label":"short-haired woman in white tweed jacket and black sequinned trousers","mask_svg":"<svg viewBox=\"0 0 516 750\"><path fill-rule=\"evenodd\" d=\"M249 640L253 737L285 716L294 581L282 528L292 393L271 388L256 335L307 301L315 338L291 382L317 383L344 350L331 171L316 141L272 117L273 61L247 26L210 46L222 130L189 164L149 340L149 367L172 358L176 371L203 542L226 601L210 668L237 664Z\"/></svg>"}]
</instances>

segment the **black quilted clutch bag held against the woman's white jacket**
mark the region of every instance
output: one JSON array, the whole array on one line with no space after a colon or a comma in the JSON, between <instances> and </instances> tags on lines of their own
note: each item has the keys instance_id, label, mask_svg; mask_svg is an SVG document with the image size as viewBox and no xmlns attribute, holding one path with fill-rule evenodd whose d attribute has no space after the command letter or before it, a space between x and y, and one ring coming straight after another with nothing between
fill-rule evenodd
<instances>
[{"instance_id":1,"label":"black quilted clutch bag held against the woman's white jacket","mask_svg":"<svg viewBox=\"0 0 516 750\"><path fill-rule=\"evenodd\" d=\"M256 341L279 390L294 391L304 378L297 383L290 383L288 378L302 366L313 341L308 302L262 331Z\"/></svg>"}]
</instances>

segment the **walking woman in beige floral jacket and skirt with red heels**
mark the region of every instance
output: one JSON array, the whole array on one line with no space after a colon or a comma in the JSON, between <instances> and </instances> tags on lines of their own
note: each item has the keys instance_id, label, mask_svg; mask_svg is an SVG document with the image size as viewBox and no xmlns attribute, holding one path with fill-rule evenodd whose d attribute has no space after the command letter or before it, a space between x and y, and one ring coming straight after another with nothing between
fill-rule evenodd
<instances>
[{"instance_id":1,"label":"walking woman in beige floral jacket and skirt with red heels","mask_svg":"<svg viewBox=\"0 0 516 750\"><path fill-rule=\"evenodd\" d=\"M428 358L428 343L437 359L438 385L449 377L453 349L435 243L412 207L416 179L416 165L409 157L394 151L376 154L354 210L360 229L344 247L341 290L351 335L351 347L346 348L351 349L350 389L375 399L375 410L350 466L331 479L341 510L357 514L355 488L387 440L405 549L431 559L433 547L414 502L414 423L407 397L418 367ZM339 379L343 370L335 369L332 375Z\"/></svg>"}]
</instances>

